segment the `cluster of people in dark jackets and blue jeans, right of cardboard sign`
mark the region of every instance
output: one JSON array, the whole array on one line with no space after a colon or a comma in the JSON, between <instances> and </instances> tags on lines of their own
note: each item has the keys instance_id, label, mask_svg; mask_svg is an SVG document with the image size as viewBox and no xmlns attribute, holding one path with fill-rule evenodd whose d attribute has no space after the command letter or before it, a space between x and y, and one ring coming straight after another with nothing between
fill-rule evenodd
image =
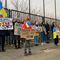
<instances>
[{"instance_id":1,"label":"cluster of people in dark jackets and blue jeans, right of cardboard sign","mask_svg":"<svg viewBox=\"0 0 60 60\"><path fill-rule=\"evenodd\" d=\"M40 32L41 42L49 43L49 40L53 38L54 22L50 25L49 23L34 24L35 30ZM52 35L52 36L51 36Z\"/></svg>"}]
</instances>

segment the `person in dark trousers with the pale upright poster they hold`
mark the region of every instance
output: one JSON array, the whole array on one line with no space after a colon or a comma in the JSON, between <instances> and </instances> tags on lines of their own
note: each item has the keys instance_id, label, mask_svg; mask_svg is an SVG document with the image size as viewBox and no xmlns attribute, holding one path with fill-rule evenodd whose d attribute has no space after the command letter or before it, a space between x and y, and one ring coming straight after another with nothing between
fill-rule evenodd
<instances>
[{"instance_id":1,"label":"person in dark trousers with the pale upright poster they hold","mask_svg":"<svg viewBox=\"0 0 60 60\"><path fill-rule=\"evenodd\" d=\"M18 22L14 23L14 45L15 45L15 48L17 48L17 49L21 48L21 46L20 46L20 28L19 28L19 26L20 26L20 23L18 23Z\"/></svg>"}]
</instances>

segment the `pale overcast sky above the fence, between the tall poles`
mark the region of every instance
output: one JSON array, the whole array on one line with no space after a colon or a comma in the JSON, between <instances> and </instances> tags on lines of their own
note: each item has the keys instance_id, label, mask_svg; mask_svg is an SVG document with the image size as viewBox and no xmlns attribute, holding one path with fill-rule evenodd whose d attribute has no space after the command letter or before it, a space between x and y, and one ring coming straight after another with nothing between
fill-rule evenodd
<instances>
[{"instance_id":1,"label":"pale overcast sky above the fence, between the tall poles","mask_svg":"<svg viewBox=\"0 0 60 60\"><path fill-rule=\"evenodd\" d=\"M5 6L5 3L4 3L5 0L1 0L1 1L3 1L3 6ZM12 0L12 1L15 3L17 0ZM22 5L23 11L28 12L29 1L24 0L25 1L24 3L21 3L21 1L23 1L23 0L19 0L18 6L23 4ZM60 18L60 0L56 0L56 2L57 2L57 18ZM10 0L7 0L7 7L9 9L16 10L16 8L14 7L14 5L11 3ZM27 10L25 9L25 7L27 7ZM20 7L18 9L21 10ZM53 17L53 18L55 17L54 9L55 9L54 0L45 0L45 15L47 17ZM43 16L43 0L31 0L31 13L35 13L35 14Z\"/></svg>"}]
</instances>

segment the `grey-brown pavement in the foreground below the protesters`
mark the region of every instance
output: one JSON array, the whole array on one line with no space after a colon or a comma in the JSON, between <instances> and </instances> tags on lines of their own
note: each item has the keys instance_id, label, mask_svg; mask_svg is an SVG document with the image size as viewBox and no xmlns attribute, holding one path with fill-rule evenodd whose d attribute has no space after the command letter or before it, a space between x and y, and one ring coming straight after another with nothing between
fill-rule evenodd
<instances>
[{"instance_id":1,"label":"grey-brown pavement in the foreground below the protesters","mask_svg":"<svg viewBox=\"0 0 60 60\"><path fill-rule=\"evenodd\" d=\"M0 52L0 60L60 60L60 44L55 47L53 43L33 46L32 55L24 56L24 49L6 48Z\"/></svg>"}]
</instances>

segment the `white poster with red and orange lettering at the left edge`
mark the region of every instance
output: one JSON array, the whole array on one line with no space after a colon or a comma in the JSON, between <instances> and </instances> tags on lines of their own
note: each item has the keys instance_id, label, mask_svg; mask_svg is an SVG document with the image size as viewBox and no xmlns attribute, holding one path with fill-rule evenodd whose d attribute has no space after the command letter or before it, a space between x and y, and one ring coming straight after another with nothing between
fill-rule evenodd
<instances>
[{"instance_id":1,"label":"white poster with red and orange lettering at the left edge","mask_svg":"<svg viewBox=\"0 0 60 60\"><path fill-rule=\"evenodd\" d=\"M12 18L0 18L0 30L12 30Z\"/></svg>"}]
</instances>

